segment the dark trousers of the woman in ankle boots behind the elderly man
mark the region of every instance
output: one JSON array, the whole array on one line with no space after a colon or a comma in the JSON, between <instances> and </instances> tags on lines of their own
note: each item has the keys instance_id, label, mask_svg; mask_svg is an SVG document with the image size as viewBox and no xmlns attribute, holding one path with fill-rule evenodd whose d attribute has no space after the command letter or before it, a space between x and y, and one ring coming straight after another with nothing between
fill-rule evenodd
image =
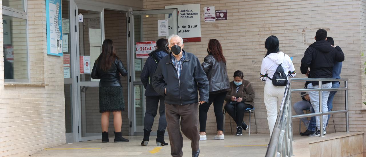
<instances>
[{"instance_id":1,"label":"dark trousers of the woman in ankle boots behind the elderly man","mask_svg":"<svg viewBox=\"0 0 366 157\"><path fill-rule=\"evenodd\" d=\"M167 120L165 119L165 103L163 96L146 96L146 112L145 112L145 123L144 123L144 130L150 131L153 127L154 118L158 111L158 104L160 100L160 107L159 107L159 126L158 132L163 131L165 132L165 128L167 128Z\"/></svg>"}]
</instances>

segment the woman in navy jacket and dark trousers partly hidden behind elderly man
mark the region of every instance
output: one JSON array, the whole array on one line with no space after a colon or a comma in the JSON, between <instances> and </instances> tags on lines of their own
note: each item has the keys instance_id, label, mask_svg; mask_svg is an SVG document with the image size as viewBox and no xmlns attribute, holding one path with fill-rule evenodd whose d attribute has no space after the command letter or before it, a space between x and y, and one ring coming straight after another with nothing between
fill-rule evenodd
<instances>
[{"instance_id":1,"label":"woman in navy jacket and dark trousers partly hidden behind elderly man","mask_svg":"<svg viewBox=\"0 0 366 157\"><path fill-rule=\"evenodd\" d=\"M164 104L164 96L158 94L152 84L151 79L153 74L155 73L155 69L164 56L169 54L168 49L168 40L159 39L156 42L156 50L149 54L149 58L146 59L145 65L143 66L141 72L141 82L145 87L145 96L146 96L146 112L144 119L144 128L143 128L143 140L141 142L141 146L146 146L147 142L149 142L149 136L151 132L151 128L153 127L154 118L157 114L158 103L160 101L159 107L159 125L157 131L156 145L157 146L167 146L168 143L164 141L164 133L165 128L167 128L167 120L165 119L165 104Z\"/></svg>"}]
</instances>

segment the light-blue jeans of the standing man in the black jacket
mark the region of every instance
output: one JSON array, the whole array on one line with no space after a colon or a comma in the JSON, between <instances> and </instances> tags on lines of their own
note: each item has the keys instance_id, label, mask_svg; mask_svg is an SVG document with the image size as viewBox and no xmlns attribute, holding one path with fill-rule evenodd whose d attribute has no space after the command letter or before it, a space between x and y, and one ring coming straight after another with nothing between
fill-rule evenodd
<instances>
[{"instance_id":1,"label":"light-blue jeans of the standing man in the black jacket","mask_svg":"<svg viewBox=\"0 0 366 157\"><path fill-rule=\"evenodd\" d=\"M332 83L326 83L326 84L322 84L321 86L322 88L332 88ZM314 85L313 83L310 83L307 85L307 88L319 88L319 85ZM328 112L328 97L329 97L329 93L330 91L322 91L321 92L321 96L322 96L322 110L323 112ZM314 112L315 113L319 113L319 92L318 91L313 91L313 92L309 92L309 97L310 97L310 103L311 105L313 105L314 108ZM328 114L327 115L323 115L323 121L320 122L320 116L315 116L315 120L317 121L317 127L318 129L320 129L320 126L323 127L323 129L325 130L326 127L326 123L328 121Z\"/></svg>"}]
</instances>

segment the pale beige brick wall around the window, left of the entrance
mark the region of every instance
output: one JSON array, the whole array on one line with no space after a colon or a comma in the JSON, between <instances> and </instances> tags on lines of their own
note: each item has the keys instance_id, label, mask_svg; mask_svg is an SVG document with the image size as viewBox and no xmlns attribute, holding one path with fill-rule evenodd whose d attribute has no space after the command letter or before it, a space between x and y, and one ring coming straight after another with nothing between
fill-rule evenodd
<instances>
[{"instance_id":1,"label":"pale beige brick wall around the window, left of the entrance","mask_svg":"<svg viewBox=\"0 0 366 157\"><path fill-rule=\"evenodd\" d=\"M4 86L0 57L0 156L29 156L65 143L63 60L46 55L45 1L27 4L30 83L48 85Z\"/></svg>"}]
</instances>

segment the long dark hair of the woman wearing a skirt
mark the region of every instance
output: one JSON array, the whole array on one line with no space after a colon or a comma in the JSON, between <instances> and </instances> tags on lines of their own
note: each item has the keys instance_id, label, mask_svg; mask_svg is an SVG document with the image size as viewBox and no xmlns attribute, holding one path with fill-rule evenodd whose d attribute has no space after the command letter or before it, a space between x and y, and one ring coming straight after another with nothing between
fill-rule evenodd
<instances>
[{"instance_id":1,"label":"long dark hair of the woman wearing a skirt","mask_svg":"<svg viewBox=\"0 0 366 157\"><path fill-rule=\"evenodd\" d=\"M95 63L105 72L113 65L116 59L116 49L111 39L106 39L102 44L102 53L99 55Z\"/></svg>"}]
</instances>

